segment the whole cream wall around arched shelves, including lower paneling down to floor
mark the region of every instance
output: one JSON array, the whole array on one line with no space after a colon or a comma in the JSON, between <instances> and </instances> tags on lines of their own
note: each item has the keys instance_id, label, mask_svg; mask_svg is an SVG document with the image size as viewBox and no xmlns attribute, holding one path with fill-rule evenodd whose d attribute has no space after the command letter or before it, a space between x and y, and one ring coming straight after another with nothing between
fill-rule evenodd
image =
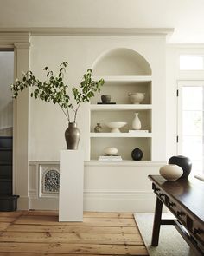
<instances>
[{"instance_id":1,"label":"whole cream wall around arched shelves, including lower paneling down to floor","mask_svg":"<svg viewBox=\"0 0 204 256\"><path fill-rule=\"evenodd\" d=\"M148 174L158 174L165 154L165 37L164 36L31 36L30 68L43 78L42 69L54 71L67 61L68 84L80 84L86 69L107 50L133 49L150 63L152 86L152 160L156 162L101 164L89 162L89 106L82 105L78 116L80 148L85 151L85 209L99 211L153 212L154 195ZM161 108L162 106L162 108ZM29 207L56 207L56 199L39 197L39 165L59 161L66 148L67 120L52 103L29 99ZM151 202L151 203L150 203Z\"/></svg>"}]
</instances>

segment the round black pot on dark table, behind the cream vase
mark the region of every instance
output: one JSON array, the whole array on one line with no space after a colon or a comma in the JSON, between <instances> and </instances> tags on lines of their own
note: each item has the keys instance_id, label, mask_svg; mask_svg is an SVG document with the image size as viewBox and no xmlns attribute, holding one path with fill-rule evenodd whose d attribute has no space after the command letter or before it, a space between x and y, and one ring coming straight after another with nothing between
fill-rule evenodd
<instances>
[{"instance_id":1,"label":"round black pot on dark table, behind the cream vase","mask_svg":"<svg viewBox=\"0 0 204 256\"><path fill-rule=\"evenodd\" d=\"M191 172L192 162L191 160L183 155L176 155L169 158L169 164L176 164L179 167L182 167L183 174L180 179L187 178Z\"/></svg>"}]
</instances>

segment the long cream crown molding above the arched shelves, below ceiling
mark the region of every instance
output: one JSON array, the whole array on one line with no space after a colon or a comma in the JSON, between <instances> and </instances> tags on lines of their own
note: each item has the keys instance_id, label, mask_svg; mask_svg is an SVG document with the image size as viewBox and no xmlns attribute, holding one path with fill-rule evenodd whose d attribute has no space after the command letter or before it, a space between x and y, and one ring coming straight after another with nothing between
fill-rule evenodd
<instances>
[{"instance_id":1,"label":"long cream crown molding above the arched shelves, below ceiling","mask_svg":"<svg viewBox=\"0 0 204 256\"><path fill-rule=\"evenodd\" d=\"M172 28L0 28L2 33L30 33L32 36L167 36Z\"/></svg>"}]
</instances>

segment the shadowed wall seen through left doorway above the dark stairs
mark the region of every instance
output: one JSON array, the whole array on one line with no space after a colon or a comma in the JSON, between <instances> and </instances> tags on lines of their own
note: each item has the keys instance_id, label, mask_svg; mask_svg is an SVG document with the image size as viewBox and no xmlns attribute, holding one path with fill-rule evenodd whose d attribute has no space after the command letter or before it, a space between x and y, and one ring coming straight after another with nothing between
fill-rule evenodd
<instances>
[{"instance_id":1,"label":"shadowed wall seen through left doorway above the dark stairs","mask_svg":"<svg viewBox=\"0 0 204 256\"><path fill-rule=\"evenodd\" d=\"M14 80L14 53L0 51L0 135L10 135L13 126L13 104L10 84Z\"/></svg>"}]
</instances>

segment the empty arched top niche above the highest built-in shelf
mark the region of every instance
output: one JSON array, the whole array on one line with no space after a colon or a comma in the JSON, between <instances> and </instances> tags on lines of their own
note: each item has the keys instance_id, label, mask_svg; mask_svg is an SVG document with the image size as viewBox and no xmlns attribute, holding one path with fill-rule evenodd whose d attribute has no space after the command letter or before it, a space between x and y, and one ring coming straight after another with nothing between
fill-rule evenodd
<instances>
[{"instance_id":1,"label":"empty arched top niche above the highest built-in shelf","mask_svg":"<svg viewBox=\"0 0 204 256\"><path fill-rule=\"evenodd\" d=\"M94 62L92 71L94 75L151 75L149 62L127 48L106 51Z\"/></svg>"}]
</instances>

